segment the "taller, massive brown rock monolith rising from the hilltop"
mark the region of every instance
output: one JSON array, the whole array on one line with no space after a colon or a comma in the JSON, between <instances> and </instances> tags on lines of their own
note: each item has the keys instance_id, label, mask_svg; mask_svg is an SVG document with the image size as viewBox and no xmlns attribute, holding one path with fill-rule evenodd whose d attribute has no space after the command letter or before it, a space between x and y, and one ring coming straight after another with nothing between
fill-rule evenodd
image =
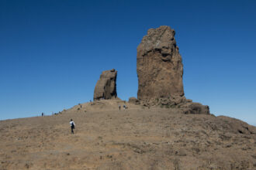
<instances>
[{"instance_id":1,"label":"taller, massive brown rock monolith rising from the hilltop","mask_svg":"<svg viewBox=\"0 0 256 170\"><path fill-rule=\"evenodd\" d=\"M182 56L169 26L149 29L137 47L138 99L184 96Z\"/></svg>"}]
</instances>

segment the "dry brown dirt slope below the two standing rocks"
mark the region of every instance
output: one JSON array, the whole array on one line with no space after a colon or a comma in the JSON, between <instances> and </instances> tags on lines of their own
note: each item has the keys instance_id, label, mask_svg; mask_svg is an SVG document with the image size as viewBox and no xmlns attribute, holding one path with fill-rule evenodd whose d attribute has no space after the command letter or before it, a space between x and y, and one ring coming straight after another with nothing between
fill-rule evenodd
<instances>
[{"instance_id":1,"label":"dry brown dirt slope below the two standing rocks","mask_svg":"<svg viewBox=\"0 0 256 170\"><path fill-rule=\"evenodd\" d=\"M101 100L54 116L0 121L0 169L256 169L254 126L119 104Z\"/></svg>"}]
</instances>

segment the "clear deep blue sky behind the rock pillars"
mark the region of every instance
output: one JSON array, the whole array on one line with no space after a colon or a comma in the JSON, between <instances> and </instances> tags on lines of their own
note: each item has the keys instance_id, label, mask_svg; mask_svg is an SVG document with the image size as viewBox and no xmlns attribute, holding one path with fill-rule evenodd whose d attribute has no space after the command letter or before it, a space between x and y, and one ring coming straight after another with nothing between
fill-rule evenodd
<instances>
[{"instance_id":1,"label":"clear deep blue sky behind the rock pillars","mask_svg":"<svg viewBox=\"0 0 256 170\"><path fill-rule=\"evenodd\" d=\"M256 1L0 1L0 119L51 114L92 99L103 70L137 97L137 46L171 26L185 96L256 125Z\"/></svg>"}]
</instances>

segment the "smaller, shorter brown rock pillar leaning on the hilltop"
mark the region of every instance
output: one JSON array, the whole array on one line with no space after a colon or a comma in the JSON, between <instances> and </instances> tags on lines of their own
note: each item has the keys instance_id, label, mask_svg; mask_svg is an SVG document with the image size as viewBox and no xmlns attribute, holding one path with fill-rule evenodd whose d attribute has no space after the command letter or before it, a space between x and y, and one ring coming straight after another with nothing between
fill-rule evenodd
<instances>
[{"instance_id":1,"label":"smaller, shorter brown rock pillar leaning on the hilltop","mask_svg":"<svg viewBox=\"0 0 256 170\"><path fill-rule=\"evenodd\" d=\"M117 97L116 76L117 71L115 69L102 72L95 86L93 100L114 99Z\"/></svg>"}]
</instances>

